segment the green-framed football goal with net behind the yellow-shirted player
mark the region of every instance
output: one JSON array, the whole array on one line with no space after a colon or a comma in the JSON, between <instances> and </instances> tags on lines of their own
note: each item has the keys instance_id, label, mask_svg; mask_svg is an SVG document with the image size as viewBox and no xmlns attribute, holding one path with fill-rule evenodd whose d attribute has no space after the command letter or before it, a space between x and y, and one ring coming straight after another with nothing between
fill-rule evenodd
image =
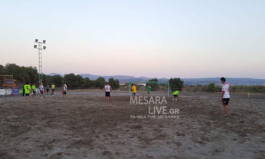
<instances>
[{"instance_id":1,"label":"green-framed football goal with net behind the yellow-shirted player","mask_svg":"<svg viewBox=\"0 0 265 159\"><path fill-rule=\"evenodd\" d=\"M131 95L132 84L136 86L136 95L147 95L147 86L150 86L150 95L167 95L169 96L169 82L150 82L150 81L129 81L128 95Z\"/></svg>"}]
</instances>

